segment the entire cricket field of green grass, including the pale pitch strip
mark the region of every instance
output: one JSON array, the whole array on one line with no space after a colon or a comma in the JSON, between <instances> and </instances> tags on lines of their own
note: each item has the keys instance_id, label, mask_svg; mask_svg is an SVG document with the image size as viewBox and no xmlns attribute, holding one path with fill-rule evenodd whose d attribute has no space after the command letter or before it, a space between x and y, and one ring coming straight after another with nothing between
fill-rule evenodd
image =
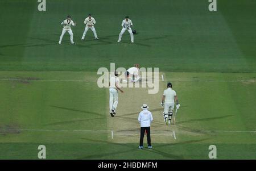
<instances>
[{"instance_id":1,"label":"entire cricket field of green grass, including the pale pitch strip","mask_svg":"<svg viewBox=\"0 0 256 171\"><path fill-rule=\"evenodd\" d=\"M0 2L0 159L256 159L256 15L254 0L96 0ZM96 19L100 40L88 31ZM67 15L77 22L57 44ZM133 20L134 44L124 16ZM134 64L158 67L159 92L125 88L118 114L109 115L109 90L97 70ZM163 74L164 81L161 78ZM180 99L176 124L166 126L160 107L168 81ZM152 111L152 150L138 150L138 113ZM113 137L112 137L113 131ZM174 136L175 134L175 136ZM146 138L144 139L146 140ZM144 142L146 145L146 141Z\"/></svg>"}]
</instances>

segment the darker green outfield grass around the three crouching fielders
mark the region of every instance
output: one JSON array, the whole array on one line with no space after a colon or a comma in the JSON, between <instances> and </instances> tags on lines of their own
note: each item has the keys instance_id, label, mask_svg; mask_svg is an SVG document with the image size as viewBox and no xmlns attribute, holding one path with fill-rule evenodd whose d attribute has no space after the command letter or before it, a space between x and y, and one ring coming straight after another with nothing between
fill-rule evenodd
<instances>
[{"instance_id":1,"label":"darker green outfield grass around the three crouching fielders","mask_svg":"<svg viewBox=\"0 0 256 171\"><path fill-rule=\"evenodd\" d=\"M96 71L139 63L177 72L255 72L255 2L218 1L48 1L39 12L36 1L1 1L0 70ZM68 9L68 10L67 10ZM84 18L96 18L100 40L88 32L81 41ZM60 23L70 14L75 45L65 35L57 44ZM129 34L117 43L125 15L133 20L135 44Z\"/></svg>"}]
</instances>

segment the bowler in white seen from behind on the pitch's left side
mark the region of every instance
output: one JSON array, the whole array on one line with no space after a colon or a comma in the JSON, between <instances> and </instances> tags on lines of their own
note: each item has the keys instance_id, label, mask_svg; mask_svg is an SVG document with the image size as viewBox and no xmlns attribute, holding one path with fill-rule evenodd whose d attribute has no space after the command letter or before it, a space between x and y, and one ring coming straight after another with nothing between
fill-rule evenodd
<instances>
[{"instance_id":1,"label":"bowler in white seen from behind on the pitch's left side","mask_svg":"<svg viewBox=\"0 0 256 171\"><path fill-rule=\"evenodd\" d=\"M119 88L119 78L118 73L115 72L113 77L110 77L109 82L109 112L112 117L115 115L115 110L118 104L118 90L123 93L123 90ZM114 115L113 115L114 114Z\"/></svg>"}]
</instances>

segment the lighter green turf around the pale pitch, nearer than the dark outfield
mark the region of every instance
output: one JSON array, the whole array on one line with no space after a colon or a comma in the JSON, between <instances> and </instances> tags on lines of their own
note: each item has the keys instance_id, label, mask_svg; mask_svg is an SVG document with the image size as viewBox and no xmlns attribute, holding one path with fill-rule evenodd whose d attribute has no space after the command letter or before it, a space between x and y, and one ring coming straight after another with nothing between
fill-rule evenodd
<instances>
[{"instance_id":1,"label":"lighter green turf around the pale pitch, nearer than the dark outfield","mask_svg":"<svg viewBox=\"0 0 256 171\"><path fill-rule=\"evenodd\" d=\"M214 144L218 159L255 159L256 132L246 132L256 130L254 73L163 74L174 83L181 109L175 126L167 127L155 110L161 93L155 99L145 94L155 119L154 149L138 151L140 109L125 112L127 88L118 116L110 118L108 89L97 88L94 72L0 72L2 99L7 99L1 108L6 115L0 118L0 158L36 159L36 145L44 144L47 159L208 159ZM135 95L138 105L140 95ZM161 130L170 135L156 133Z\"/></svg>"}]
</instances>

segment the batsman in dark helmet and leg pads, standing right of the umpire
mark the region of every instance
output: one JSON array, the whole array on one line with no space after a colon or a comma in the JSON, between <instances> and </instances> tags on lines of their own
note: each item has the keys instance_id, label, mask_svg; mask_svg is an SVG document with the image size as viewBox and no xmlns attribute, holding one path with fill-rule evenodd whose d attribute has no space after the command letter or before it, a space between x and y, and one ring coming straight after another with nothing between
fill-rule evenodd
<instances>
[{"instance_id":1,"label":"batsman in dark helmet and leg pads, standing right of the umpire","mask_svg":"<svg viewBox=\"0 0 256 171\"><path fill-rule=\"evenodd\" d=\"M172 90L171 82L168 82L167 89L164 90L161 106L164 106L164 122L168 121L168 124L171 124L172 115L174 113L174 104L176 101L176 108L179 109L180 104L177 99L176 91Z\"/></svg>"}]
</instances>

